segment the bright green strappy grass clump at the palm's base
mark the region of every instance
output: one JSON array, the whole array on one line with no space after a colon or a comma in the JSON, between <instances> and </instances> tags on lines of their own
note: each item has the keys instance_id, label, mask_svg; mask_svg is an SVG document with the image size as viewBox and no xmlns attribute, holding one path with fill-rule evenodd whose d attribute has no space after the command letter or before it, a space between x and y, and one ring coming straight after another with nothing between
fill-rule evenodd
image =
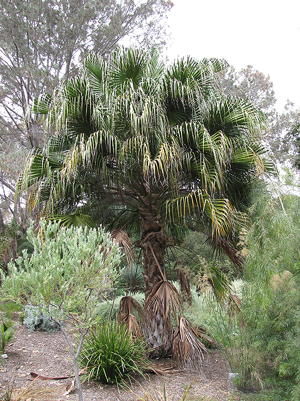
<instances>
[{"instance_id":1,"label":"bright green strappy grass clump at the palm's base","mask_svg":"<svg viewBox=\"0 0 300 401\"><path fill-rule=\"evenodd\" d=\"M79 364L87 369L87 378L105 384L129 380L147 367L145 344L133 338L125 326L99 324L83 343Z\"/></svg>"}]
</instances>

